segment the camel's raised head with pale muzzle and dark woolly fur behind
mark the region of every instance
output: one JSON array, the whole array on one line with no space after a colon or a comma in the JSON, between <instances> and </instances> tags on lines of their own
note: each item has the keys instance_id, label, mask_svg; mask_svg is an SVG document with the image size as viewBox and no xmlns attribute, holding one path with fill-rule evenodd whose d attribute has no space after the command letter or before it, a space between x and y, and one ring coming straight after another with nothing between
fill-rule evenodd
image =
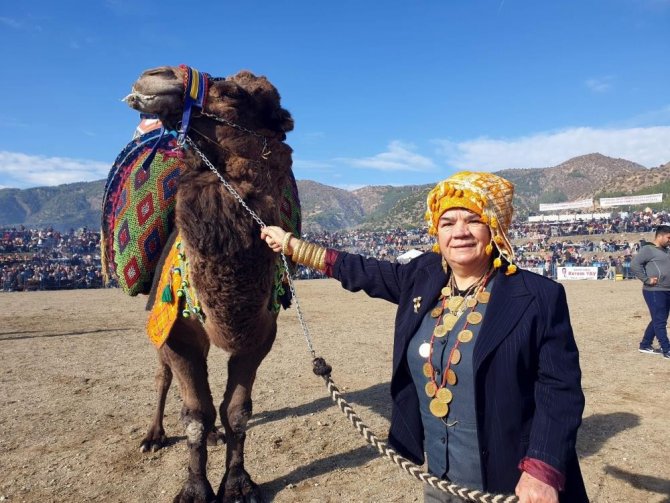
<instances>
[{"instance_id":1,"label":"camel's raised head with pale muzzle and dark woolly fur behind","mask_svg":"<svg viewBox=\"0 0 670 503\"><path fill-rule=\"evenodd\" d=\"M133 84L132 92L124 98L132 108L156 114L170 128L182 119L185 87L185 67L162 66L145 71ZM242 71L225 79L206 78L203 111L267 136L284 138L293 129L293 119L279 104L279 93L265 77ZM194 110L191 124L211 121L199 117Z\"/></svg>"}]
</instances>

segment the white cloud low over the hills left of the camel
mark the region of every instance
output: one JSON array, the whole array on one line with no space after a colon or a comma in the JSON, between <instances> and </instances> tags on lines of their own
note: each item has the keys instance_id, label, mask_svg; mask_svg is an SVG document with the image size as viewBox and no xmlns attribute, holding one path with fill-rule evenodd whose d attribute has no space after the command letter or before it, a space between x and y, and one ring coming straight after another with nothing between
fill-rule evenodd
<instances>
[{"instance_id":1,"label":"white cloud low over the hills left of the camel","mask_svg":"<svg viewBox=\"0 0 670 503\"><path fill-rule=\"evenodd\" d=\"M105 178L110 164L68 157L0 151L0 185L26 188Z\"/></svg>"}]
</instances>

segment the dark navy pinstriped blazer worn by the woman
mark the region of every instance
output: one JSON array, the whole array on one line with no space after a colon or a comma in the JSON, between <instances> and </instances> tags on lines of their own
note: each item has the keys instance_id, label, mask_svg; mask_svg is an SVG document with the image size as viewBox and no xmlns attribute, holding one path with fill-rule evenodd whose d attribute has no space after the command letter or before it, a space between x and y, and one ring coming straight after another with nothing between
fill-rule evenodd
<instances>
[{"instance_id":1,"label":"dark navy pinstriped blazer worn by the woman","mask_svg":"<svg viewBox=\"0 0 670 503\"><path fill-rule=\"evenodd\" d=\"M437 253L408 264L340 252L332 276L350 291L398 305L389 443L421 464L423 427L407 346L437 302L447 275ZM414 312L413 299L421 297ZM514 493L518 464L539 459L566 476L560 500L588 501L575 443L584 410L579 353L562 285L528 271L498 273L473 354L484 490Z\"/></svg>"}]
</instances>

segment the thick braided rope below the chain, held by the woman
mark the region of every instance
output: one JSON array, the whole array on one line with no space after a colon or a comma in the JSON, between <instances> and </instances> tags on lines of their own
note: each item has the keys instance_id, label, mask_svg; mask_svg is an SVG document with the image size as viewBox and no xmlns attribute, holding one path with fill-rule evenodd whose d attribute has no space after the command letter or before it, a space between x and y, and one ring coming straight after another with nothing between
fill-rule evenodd
<instances>
[{"instance_id":1,"label":"thick braided rope below the chain, held by the woman","mask_svg":"<svg viewBox=\"0 0 670 503\"><path fill-rule=\"evenodd\" d=\"M365 440L370 445L375 447L381 455L389 458L396 465L409 473L412 477L420 480L425 484L428 484L435 489L439 489L441 491L453 494L454 496L458 496L465 501L478 501L481 503L517 503L519 501L519 498L515 495L508 496L504 494L490 494L478 489L468 489L467 487L459 486L449 480L443 480L424 471L420 466L417 466L409 459L404 458L395 450L388 447L385 442L379 440L377 436L372 433L358 417L356 412L354 412L354 409L342 397L340 390L337 389L337 386L335 386L335 383L330 378L330 376L322 377L324 381L326 381L326 387L328 388L330 397L337 404L342 413L347 416L347 419L349 419L351 424L358 430L361 436L365 438Z\"/></svg>"}]
</instances>

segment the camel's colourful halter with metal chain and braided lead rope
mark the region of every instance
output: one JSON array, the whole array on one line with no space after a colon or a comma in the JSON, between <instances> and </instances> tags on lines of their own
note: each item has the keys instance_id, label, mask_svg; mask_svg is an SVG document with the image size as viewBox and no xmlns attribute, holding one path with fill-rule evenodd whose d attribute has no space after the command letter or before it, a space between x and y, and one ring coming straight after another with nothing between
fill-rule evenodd
<instances>
[{"instance_id":1,"label":"camel's colourful halter with metal chain and braided lead rope","mask_svg":"<svg viewBox=\"0 0 670 503\"><path fill-rule=\"evenodd\" d=\"M207 168L216 175L216 177L219 179L219 181L223 184L223 186L228 190L228 192L231 194L231 196L244 208L244 210L251 216L251 218L262 228L266 227L267 225L263 220L261 219L258 214L247 205L247 203L244 201L242 196L235 190L235 188L225 179L225 177L219 172L219 170L212 164L212 162L207 158L207 156L198 148L196 143L188 136L188 130L190 126L190 119L191 117L206 117L211 120L220 122L222 124L225 124L229 127L232 127L234 129L237 129L238 131L244 132L246 134L253 135L257 138L263 139L263 150L261 152L261 158L264 160L267 160L268 157L271 154L271 151L267 150L267 142L268 142L268 137L264 136L260 133L257 133L256 131L249 130L243 126L240 126L239 124L236 124L234 122L231 122L227 119L224 119L222 117L216 116L214 114L206 113L202 109L204 107L204 99L205 99L205 93L206 89L208 86L208 82L210 80L216 81L216 80L223 80L222 78L212 78L208 74L203 73L199 74L197 70L194 70L190 67L187 67L185 65L181 65L180 68L182 68L185 71L185 78L184 78L184 100L185 100L185 110L182 115L182 121L179 127L179 132L178 132L178 139L181 138L181 141L179 141L179 145L181 148L184 148L186 144L189 145L190 148L193 149L193 151L200 157L202 162L207 166ZM193 97L193 94L196 94L195 97ZM186 108L188 108L188 112L186 111ZM200 112L199 115L193 116L193 108L199 108ZM201 136L205 137L202 135L202 133L198 132ZM161 143L161 139L163 137L163 131L161 131L161 135L156 142L156 145ZM209 139L205 137L206 139ZM153 159L153 156L150 155ZM149 161L149 164L151 162ZM147 166L148 167L148 166ZM296 313L298 316L298 320L300 322L300 326L303 331L303 337L305 338L307 348L309 350L309 353L312 356L312 371L314 374L317 376L320 376L323 378L323 380L326 383L326 388L328 390L328 393L331 397L331 399L335 402L335 404L340 408L342 413L349 419L351 424L356 428L356 430L361 434L361 436L372 446L374 446L381 455L386 456L389 458L393 463L395 463L398 467L401 469L405 470L407 473L409 473L411 476L414 478L420 480L421 482L430 485L431 487L438 489L440 491L443 491L445 493L452 494L454 496L458 496L459 498L463 499L464 501L476 501L476 502L481 502L481 503L517 503L519 501L518 497L515 495L503 495L503 494L491 494L487 493L485 491L480 491L478 489L469 489L467 487L459 486L458 484L454 484L453 482L449 480L443 480L439 477L436 477L435 475L432 475L428 473L427 471L423 470L420 466L416 465L409 459L401 456L398 454L393 448L389 447L386 442L383 442L379 440L379 438L372 432L370 429L367 427L365 423L360 419L358 414L354 411L354 409L349 405L349 403L343 398L342 394L340 393L340 390L337 388L335 383L333 382L333 379L331 377L331 372L332 372L332 367L328 365L322 357L318 357L316 355L316 351L314 350L313 344L312 344L312 338L309 333L309 329L307 327L307 323L305 321L305 318L302 313L302 309L300 307L300 300L298 298L298 294L296 293L295 289L295 284L293 281L293 278L291 275L288 273L289 271L289 264L288 264L288 259L286 255L283 252L280 252L281 254L281 260L283 262L284 268L287 271L286 277L288 280L289 288L291 290L291 295L293 297L293 300L295 301L295 306L296 306ZM192 309L194 306L191 306L189 303L189 298L186 298L187 304L189 309ZM199 320L201 323L203 323L202 318L199 317Z\"/></svg>"}]
</instances>

